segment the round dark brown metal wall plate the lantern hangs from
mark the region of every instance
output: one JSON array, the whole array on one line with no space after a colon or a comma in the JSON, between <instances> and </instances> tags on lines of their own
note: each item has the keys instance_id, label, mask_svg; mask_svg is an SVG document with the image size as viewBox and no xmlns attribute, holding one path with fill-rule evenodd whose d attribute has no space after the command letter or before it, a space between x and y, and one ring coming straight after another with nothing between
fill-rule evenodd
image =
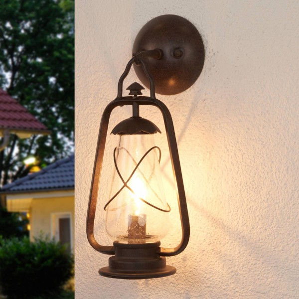
<instances>
[{"instance_id":1,"label":"round dark brown metal wall plate the lantern hangs from","mask_svg":"<svg viewBox=\"0 0 299 299\"><path fill-rule=\"evenodd\" d=\"M155 91L174 95L188 89L199 77L204 64L204 45L195 26L187 19L164 14L151 19L136 36L133 53L155 48L163 51L160 59L145 58ZM134 64L141 82L149 88L142 65Z\"/></svg>"}]
</instances>

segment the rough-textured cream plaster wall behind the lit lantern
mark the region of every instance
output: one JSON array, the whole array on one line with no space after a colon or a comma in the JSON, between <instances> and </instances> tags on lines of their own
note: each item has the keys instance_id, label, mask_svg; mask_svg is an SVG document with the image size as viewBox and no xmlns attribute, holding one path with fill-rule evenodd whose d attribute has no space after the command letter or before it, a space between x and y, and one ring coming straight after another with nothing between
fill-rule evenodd
<instances>
[{"instance_id":1,"label":"rough-textured cream plaster wall behind the lit lantern","mask_svg":"<svg viewBox=\"0 0 299 299\"><path fill-rule=\"evenodd\" d=\"M112 280L97 273L109 256L85 235L100 118L116 97L136 34L166 13L193 22L206 49L189 90L158 96L173 116L191 238L182 254L167 259L175 275ZM299 298L298 16L297 0L76 1L77 299ZM125 88L137 80L134 71L129 77ZM163 129L156 111L142 113ZM129 115L129 108L118 110L114 124ZM165 138L157 143L173 207L162 245L171 246L180 238L176 199ZM106 161L109 173L111 157ZM96 235L108 245L101 235L105 200Z\"/></svg>"}]
</instances>

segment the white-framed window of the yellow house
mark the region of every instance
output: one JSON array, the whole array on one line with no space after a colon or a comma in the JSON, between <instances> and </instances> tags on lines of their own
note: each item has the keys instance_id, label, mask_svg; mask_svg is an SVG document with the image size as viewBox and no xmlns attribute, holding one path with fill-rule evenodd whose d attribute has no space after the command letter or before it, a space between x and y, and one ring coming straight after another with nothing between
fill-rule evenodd
<instances>
[{"instance_id":1,"label":"white-framed window of the yellow house","mask_svg":"<svg viewBox=\"0 0 299 299\"><path fill-rule=\"evenodd\" d=\"M51 237L56 242L67 245L68 251L72 250L71 213L52 213Z\"/></svg>"}]
</instances>

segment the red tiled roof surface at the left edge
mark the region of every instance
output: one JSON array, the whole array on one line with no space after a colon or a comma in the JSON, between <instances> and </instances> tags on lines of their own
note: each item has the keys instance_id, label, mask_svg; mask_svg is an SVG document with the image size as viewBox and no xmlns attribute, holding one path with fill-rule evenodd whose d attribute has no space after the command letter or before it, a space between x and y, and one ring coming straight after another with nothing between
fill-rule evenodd
<instances>
[{"instance_id":1,"label":"red tiled roof surface at the left edge","mask_svg":"<svg viewBox=\"0 0 299 299\"><path fill-rule=\"evenodd\" d=\"M49 133L26 108L20 105L8 93L0 88L0 129L25 131L40 134Z\"/></svg>"}]
</instances>

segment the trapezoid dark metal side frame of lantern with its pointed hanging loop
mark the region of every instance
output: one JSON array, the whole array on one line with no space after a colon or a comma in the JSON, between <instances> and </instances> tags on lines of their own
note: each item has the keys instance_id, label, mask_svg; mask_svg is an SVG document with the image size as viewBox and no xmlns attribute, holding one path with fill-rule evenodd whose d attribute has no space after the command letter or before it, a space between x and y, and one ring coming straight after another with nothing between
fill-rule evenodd
<instances>
[{"instance_id":1,"label":"trapezoid dark metal side frame of lantern with its pointed hanging loop","mask_svg":"<svg viewBox=\"0 0 299 299\"><path fill-rule=\"evenodd\" d=\"M100 245L94 236L94 221L95 221L95 213L96 213L96 206L97 206L97 197L99 191L99 182L101 177L101 170L103 165L103 157L104 157L104 150L106 145L106 138L109 126L109 119L111 116L112 111L119 106L133 106L134 103L138 105L148 105L154 106L158 108L163 116L164 126L166 131L166 137L168 142L168 149L169 155L172 165L172 171L174 180L176 181L176 193L177 193L177 201L180 213L180 221L181 221L181 230L182 230L182 237L180 243L174 248L164 248L164 247L157 247L157 254L159 256L174 256L181 253L187 246L190 236L190 225L189 225L189 216L187 210L187 203L186 203L186 196L184 191L184 184L182 178L182 172L180 167L177 143L175 138L174 126L173 121L170 115L170 112L166 105L162 103L160 100L156 99L155 97L155 89L154 89L154 80L152 75L150 74L147 64L145 60L141 57L142 55L135 55L131 60L128 62L124 73L119 79L118 82L118 95L115 100L110 102L107 107L105 108L98 136L98 143L96 149L96 157L94 162L93 168L93 175L92 175L92 182L91 182L91 189L90 189L90 196L89 196L89 203L88 203L88 212L87 212L87 223L86 223L86 233L87 239L90 245L97 251L113 255L115 254L115 247L114 246L103 246ZM123 97L123 82L124 79L130 72L131 66L133 63L141 63L144 69L145 74L147 75L150 83L150 97L145 96L125 96ZM135 105L136 105L135 104Z\"/></svg>"}]
</instances>

